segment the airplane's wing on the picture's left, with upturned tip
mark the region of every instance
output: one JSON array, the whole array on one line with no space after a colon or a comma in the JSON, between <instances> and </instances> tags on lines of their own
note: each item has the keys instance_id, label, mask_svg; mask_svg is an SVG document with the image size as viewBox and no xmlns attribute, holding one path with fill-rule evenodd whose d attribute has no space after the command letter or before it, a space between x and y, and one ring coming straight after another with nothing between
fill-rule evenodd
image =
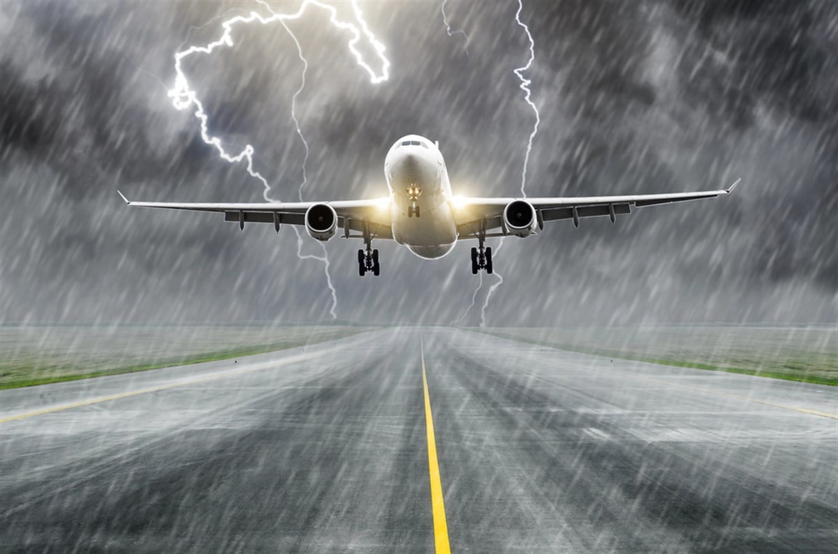
<instances>
[{"instance_id":1,"label":"airplane's wing on the picture's left, with upturned tip","mask_svg":"<svg viewBox=\"0 0 838 554\"><path fill-rule=\"evenodd\" d=\"M119 191L116 191L119 192ZM162 208L188 210L193 212L224 213L224 220L239 223L273 223L277 232L282 225L305 226L308 208L316 204L328 204L338 214L338 229L346 238L363 238L368 232L374 239L392 239L390 198L375 200L346 200L339 202L265 202L265 203L176 203L176 202L132 202L122 192L122 200L135 208Z\"/></svg>"}]
</instances>

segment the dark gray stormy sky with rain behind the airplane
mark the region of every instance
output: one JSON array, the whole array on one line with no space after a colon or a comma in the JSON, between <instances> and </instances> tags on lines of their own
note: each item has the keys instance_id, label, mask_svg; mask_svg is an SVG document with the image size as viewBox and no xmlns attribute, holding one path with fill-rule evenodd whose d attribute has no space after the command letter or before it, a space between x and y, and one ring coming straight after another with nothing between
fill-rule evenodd
<instances>
[{"instance_id":1,"label":"dark gray stormy sky with rain behind the airplane","mask_svg":"<svg viewBox=\"0 0 838 554\"><path fill-rule=\"evenodd\" d=\"M360 3L391 61L380 85L323 10L289 23L308 59L297 99L306 199L384 195L385 151L408 133L440 141L455 192L518 193L534 115L513 73L529 54L517 3L447 3L468 54L441 5ZM247 2L0 4L0 319L329 319L323 264L297 259L291 229L240 233L215 214L132 210L116 195L261 200L260 183L205 146L166 94L173 54L251 9L266 13ZM339 13L352 18L347 4ZM616 225L558 222L505 239L488 325L836 320L838 4L562 0L525 2L520 17L541 112L528 195L742 185ZM290 109L303 65L281 25L233 37L184 69L210 131L231 150L251 144L272 197L294 199L304 150ZM321 253L303 239L303 253ZM339 318L460 319L479 282L469 246L425 261L380 241L381 276L361 279L360 244L333 239ZM499 278L483 282L463 324L480 321Z\"/></svg>"}]
</instances>

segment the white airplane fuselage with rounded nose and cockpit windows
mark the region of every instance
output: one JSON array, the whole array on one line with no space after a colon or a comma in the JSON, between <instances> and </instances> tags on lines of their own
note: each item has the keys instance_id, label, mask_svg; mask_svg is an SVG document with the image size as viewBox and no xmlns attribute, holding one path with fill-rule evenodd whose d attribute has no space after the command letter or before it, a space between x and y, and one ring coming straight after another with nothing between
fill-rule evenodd
<instances>
[{"instance_id":1,"label":"white airplane fuselage with rounded nose and cockpit windows","mask_svg":"<svg viewBox=\"0 0 838 554\"><path fill-rule=\"evenodd\" d=\"M423 136L403 136L387 152L384 174L396 243L424 259L451 252L457 225L451 182L437 144Z\"/></svg>"}]
</instances>

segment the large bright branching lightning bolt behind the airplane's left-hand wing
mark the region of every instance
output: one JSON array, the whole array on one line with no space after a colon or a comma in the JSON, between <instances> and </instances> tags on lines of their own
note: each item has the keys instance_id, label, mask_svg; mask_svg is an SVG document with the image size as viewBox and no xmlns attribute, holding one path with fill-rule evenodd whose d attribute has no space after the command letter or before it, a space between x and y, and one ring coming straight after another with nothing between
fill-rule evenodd
<instances>
[{"instance_id":1,"label":"large bright branching lightning bolt behind the airplane's left-hand wing","mask_svg":"<svg viewBox=\"0 0 838 554\"><path fill-rule=\"evenodd\" d=\"M268 184L265 177L261 175L260 172L257 172L253 167L253 155L254 155L254 148L250 144L247 144L245 148L240 151L238 154L230 154L225 150L224 145L222 144L221 139L218 136L210 136L208 123L209 123L209 116L206 115L204 111L204 105L201 104L198 94L191 89L189 86L189 80L187 80L186 75L184 74L183 70L183 60L189 57L192 54L212 54L213 51L220 47L228 47L231 48L233 46L233 35L232 29L235 25L240 23L249 24L253 22L258 22L261 25L266 25L269 23L279 22L282 24L282 27L285 28L287 33L291 36L294 41L294 44L297 45L297 54L300 60L303 62L303 76L302 76L302 84L297 92L294 93L292 97L292 107L291 107L291 116L292 120L294 121L294 126L297 130L297 136L300 137L300 140L303 141L303 146L305 147L305 157L303 158L303 181L300 183L297 194L300 200L303 200L303 187L305 187L306 182L308 181L306 177L306 162L308 162L308 142L306 142L305 137L303 136L303 131L300 128L299 121L297 121L297 114L296 114L296 105L297 105L297 96L303 92L303 88L305 87L305 77L306 77L306 70L308 69L308 61L303 56L303 49L300 46L297 37L292 33L291 29L288 28L286 21L292 19L299 19L303 17L303 14L306 11L308 6L313 5L316 8L322 8L329 13L329 21L334 25L335 28L339 28L341 30L347 30L349 33L352 34L352 38L349 40L348 48L349 51L354 54L355 61L360 65L362 69L365 70L367 74L370 75L370 82L373 85L377 85L387 79L389 79L389 69L390 69L390 61L385 57L384 51L385 47L384 44L381 44L376 38L375 35L370 31L369 26L367 25L364 15L361 12L360 8L358 7L358 3L356 0L352 0L352 8L354 12L354 17L358 25L354 23L347 23L340 21L338 18L338 11L332 6L328 4L317 2L316 0L303 0L303 3L297 8L297 12L295 13L276 13L272 10L272 8L262 0L257 0L262 6L267 8L268 12L271 13L270 17L264 17L260 13L251 12L248 15L240 15L236 16L235 18L230 18L225 20L221 23L221 27L224 29L224 33L215 40L205 46L191 46L188 49L180 50L177 54L174 55L174 69L175 69L175 80L174 86L171 90L168 91L168 96L172 99L173 105L178 110L187 110L190 107L194 107L194 115L198 119L200 124L200 133L201 139L209 146L215 147L215 150L218 151L219 156L221 159L225 160L225 162L230 163L240 163L242 161L246 162L246 171L251 176L254 177L256 180L261 182L262 185L262 196L265 197L265 200L268 202L275 201L276 199L269 196L271 192L271 186ZM190 29L191 30L191 29ZM376 73L374 69L370 67L364 61L363 55L357 49L357 44L361 39L361 36L365 36L367 40L370 41L373 48L375 49L375 54L379 57L381 62L381 71L380 73ZM337 306L338 306L338 295L337 291L334 289L334 285L332 284L331 274L329 274L329 261L328 255L326 253L326 246L325 244L320 244L321 248L323 249L323 256L315 256L313 254L303 254L303 237L301 236L299 229L293 227L294 233L297 234L297 257L299 259L316 259L318 261L323 262L323 272L326 274L326 282L328 284L328 288L332 294L332 306L329 309L329 314L332 315L334 319L337 319Z\"/></svg>"}]
</instances>

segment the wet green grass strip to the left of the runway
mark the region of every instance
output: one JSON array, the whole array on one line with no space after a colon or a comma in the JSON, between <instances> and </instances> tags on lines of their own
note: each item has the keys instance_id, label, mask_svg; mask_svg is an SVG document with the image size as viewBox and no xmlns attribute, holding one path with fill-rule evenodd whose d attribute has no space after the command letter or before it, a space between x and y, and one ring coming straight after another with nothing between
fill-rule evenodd
<instances>
[{"instance_id":1,"label":"wet green grass strip to the left of the runway","mask_svg":"<svg viewBox=\"0 0 838 554\"><path fill-rule=\"evenodd\" d=\"M334 341L368 327L0 326L0 389L214 362Z\"/></svg>"}]
</instances>

